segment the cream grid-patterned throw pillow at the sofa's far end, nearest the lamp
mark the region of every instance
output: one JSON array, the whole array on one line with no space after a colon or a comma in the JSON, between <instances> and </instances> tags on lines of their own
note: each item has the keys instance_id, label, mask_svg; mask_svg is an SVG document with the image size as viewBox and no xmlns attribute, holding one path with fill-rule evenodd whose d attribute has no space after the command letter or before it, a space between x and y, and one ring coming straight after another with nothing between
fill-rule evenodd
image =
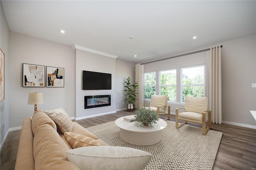
<instances>
[{"instance_id":1,"label":"cream grid-patterned throw pillow at the sofa's far end, nearest the lamp","mask_svg":"<svg viewBox=\"0 0 256 170\"><path fill-rule=\"evenodd\" d=\"M52 118L56 123L57 128L64 134L64 132L71 132L73 129L73 123L70 118L64 114L59 113L56 117Z\"/></svg>"}]
</instances>

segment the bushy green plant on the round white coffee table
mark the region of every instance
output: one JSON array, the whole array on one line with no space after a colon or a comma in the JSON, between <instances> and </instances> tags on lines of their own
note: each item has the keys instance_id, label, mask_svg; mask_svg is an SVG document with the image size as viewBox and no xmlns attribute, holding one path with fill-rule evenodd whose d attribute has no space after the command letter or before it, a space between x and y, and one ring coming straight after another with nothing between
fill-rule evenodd
<instances>
[{"instance_id":1,"label":"bushy green plant on the round white coffee table","mask_svg":"<svg viewBox=\"0 0 256 170\"><path fill-rule=\"evenodd\" d=\"M141 109L137 109L134 111L135 113L135 123L137 125L145 125L153 127L153 124L156 121L159 121L159 116L155 111L150 110L149 107L142 107Z\"/></svg>"}]
</instances>

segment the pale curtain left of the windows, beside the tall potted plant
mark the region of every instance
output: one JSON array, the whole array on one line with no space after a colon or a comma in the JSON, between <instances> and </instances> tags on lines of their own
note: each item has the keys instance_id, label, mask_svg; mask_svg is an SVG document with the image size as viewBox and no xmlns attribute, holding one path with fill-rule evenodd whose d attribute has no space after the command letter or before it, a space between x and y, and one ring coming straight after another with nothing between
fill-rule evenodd
<instances>
[{"instance_id":1,"label":"pale curtain left of the windows, beside the tall potted plant","mask_svg":"<svg viewBox=\"0 0 256 170\"><path fill-rule=\"evenodd\" d=\"M135 82L138 83L139 88L137 89L136 109L140 109L140 103L144 103L144 65L135 65Z\"/></svg>"}]
</instances>

